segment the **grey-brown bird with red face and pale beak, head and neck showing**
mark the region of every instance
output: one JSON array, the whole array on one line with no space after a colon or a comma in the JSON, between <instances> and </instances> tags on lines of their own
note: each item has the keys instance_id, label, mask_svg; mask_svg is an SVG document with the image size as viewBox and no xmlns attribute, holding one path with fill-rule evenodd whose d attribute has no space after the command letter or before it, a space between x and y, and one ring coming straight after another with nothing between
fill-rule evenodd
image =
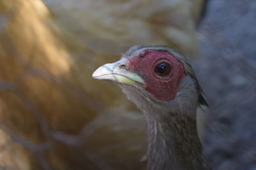
<instances>
[{"instance_id":1,"label":"grey-brown bird with red face and pale beak, head and neck showing","mask_svg":"<svg viewBox=\"0 0 256 170\"><path fill-rule=\"evenodd\" d=\"M147 169L211 169L196 125L196 110L208 104L191 65L175 48L132 46L92 77L116 83L145 115Z\"/></svg>"}]
</instances>

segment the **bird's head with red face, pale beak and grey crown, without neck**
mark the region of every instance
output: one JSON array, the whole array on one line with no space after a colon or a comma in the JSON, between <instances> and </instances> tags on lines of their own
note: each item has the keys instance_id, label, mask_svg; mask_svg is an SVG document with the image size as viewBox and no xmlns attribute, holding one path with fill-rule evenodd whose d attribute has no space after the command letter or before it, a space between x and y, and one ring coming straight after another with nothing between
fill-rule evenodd
<instances>
[{"instance_id":1,"label":"bird's head with red face, pale beak and grey crown, without neck","mask_svg":"<svg viewBox=\"0 0 256 170\"><path fill-rule=\"evenodd\" d=\"M170 46L132 46L119 61L99 67L92 76L117 83L142 111L206 105L193 69Z\"/></svg>"}]
</instances>

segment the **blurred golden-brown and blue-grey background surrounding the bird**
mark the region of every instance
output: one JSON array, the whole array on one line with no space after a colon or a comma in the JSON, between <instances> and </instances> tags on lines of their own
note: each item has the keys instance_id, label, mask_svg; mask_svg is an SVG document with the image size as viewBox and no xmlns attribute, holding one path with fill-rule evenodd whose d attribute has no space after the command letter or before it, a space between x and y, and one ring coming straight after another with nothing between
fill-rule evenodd
<instances>
[{"instance_id":1,"label":"blurred golden-brown and blue-grey background surrounding the bird","mask_svg":"<svg viewBox=\"0 0 256 170\"><path fill-rule=\"evenodd\" d=\"M145 118L92 78L133 45L189 58L211 106L204 143L216 169L256 162L255 10L253 0L0 0L0 169L146 169Z\"/></svg>"}]
</instances>

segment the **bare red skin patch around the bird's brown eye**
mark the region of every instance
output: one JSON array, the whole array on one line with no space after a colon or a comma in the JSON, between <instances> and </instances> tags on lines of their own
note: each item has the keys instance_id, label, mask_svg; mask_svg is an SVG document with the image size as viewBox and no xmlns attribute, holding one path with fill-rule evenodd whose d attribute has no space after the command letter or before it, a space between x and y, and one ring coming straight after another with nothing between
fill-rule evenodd
<instances>
[{"instance_id":1,"label":"bare red skin patch around the bird's brown eye","mask_svg":"<svg viewBox=\"0 0 256 170\"><path fill-rule=\"evenodd\" d=\"M172 67L172 71L166 76L160 76L154 71L162 62ZM144 50L138 57L128 59L127 65L129 71L143 78L145 89L161 101L174 99L179 91L179 82L185 75L183 64L168 52Z\"/></svg>"}]
</instances>

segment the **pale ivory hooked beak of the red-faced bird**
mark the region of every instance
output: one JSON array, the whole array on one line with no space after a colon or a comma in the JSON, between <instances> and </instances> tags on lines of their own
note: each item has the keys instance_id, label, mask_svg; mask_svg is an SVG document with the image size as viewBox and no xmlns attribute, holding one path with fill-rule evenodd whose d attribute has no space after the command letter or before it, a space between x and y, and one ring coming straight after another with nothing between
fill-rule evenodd
<instances>
[{"instance_id":1,"label":"pale ivory hooked beak of the red-faced bird","mask_svg":"<svg viewBox=\"0 0 256 170\"><path fill-rule=\"evenodd\" d=\"M126 66L125 59L119 60L111 64L105 64L99 67L93 74L92 77L99 80L111 80L116 83L123 84L135 84L140 83L144 85L143 79L138 74L132 73L124 69Z\"/></svg>"}]
</instances>

